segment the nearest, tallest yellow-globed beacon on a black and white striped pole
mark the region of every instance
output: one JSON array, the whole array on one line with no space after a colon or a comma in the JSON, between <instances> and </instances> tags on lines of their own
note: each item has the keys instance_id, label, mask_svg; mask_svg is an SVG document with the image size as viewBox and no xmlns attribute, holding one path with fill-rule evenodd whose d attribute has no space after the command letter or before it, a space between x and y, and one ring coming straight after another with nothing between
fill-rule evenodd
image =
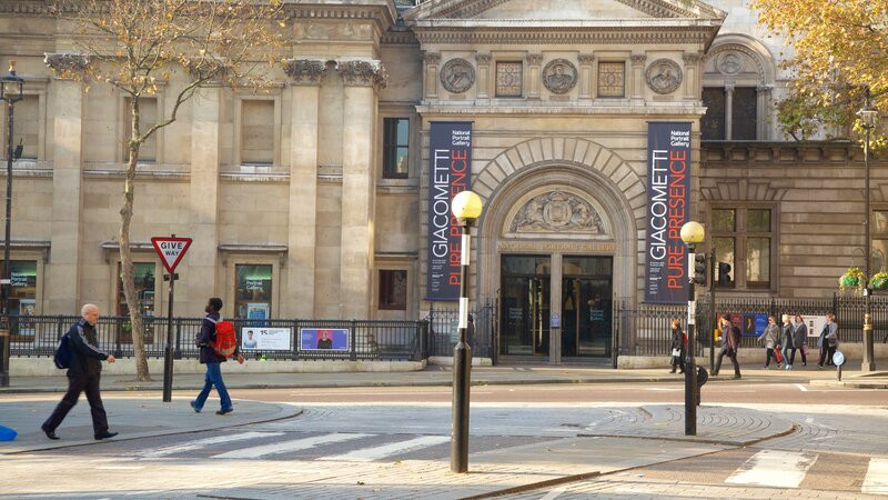
<instances>
[{"instance_id":1,"label":"nearest, tallest yellow-globed beacon on a black and white striped pole","mask_svg":"<svg viewBox=\"0 0 888 500\"><path fill-rule=\"evenodd\" d=\"M472 374L472 347L465 341L468 328L468 253L472 224L481 217L481 197L463 191L453 198L452 211L463 228L460 268L460 340L453 348L453 410L451 428L451 471L468 472L468 399Z\"/></svg>"}]
</instances>

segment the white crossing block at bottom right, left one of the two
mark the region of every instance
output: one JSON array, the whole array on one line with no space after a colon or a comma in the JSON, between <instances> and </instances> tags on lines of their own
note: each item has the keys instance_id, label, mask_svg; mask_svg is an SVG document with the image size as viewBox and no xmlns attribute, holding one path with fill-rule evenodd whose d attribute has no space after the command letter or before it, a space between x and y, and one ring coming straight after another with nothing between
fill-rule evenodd
<instances>
[{"instance_id":1,"label":"white crossing block at bottom right, left one of the two","mask_svg":"<svg viewBox=\"0 0 888 500\"><path fill-rule=\"evenodd\" d=\"M763 450L749 457L728 479L730 484L757 484L775 488L798 488L808 469L817 461L816 453Z\"/></svg>"}]
</instances>

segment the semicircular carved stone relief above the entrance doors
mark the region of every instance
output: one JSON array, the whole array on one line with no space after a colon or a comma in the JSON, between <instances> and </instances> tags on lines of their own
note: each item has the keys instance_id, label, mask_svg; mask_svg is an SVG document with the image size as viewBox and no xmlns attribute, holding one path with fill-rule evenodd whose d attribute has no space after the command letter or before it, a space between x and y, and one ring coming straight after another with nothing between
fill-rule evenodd
<instances>
[{"instance_id":1,"label":"semicircular carved stone relief above the entrance doors","mask_svg":"<svg viewBox=\"0 0 888 500\"><path fill-rule=\"evenodd\" d=\"M604 223L589 202L563 191L529 199L509 226L511 232L582 232L604 234Z\"/></svg>"}]
</instances>

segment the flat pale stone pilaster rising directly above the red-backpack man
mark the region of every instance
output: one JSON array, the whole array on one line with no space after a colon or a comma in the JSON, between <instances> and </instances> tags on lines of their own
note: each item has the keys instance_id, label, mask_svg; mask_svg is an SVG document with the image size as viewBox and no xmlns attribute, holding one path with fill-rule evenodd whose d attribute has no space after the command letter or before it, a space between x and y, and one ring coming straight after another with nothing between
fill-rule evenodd
<instances>
[{"instance_id":1,"label":"flat pale stone pilaster rising directly above the red-backpack man","mask_svg":"<svg viewBox=\"0 0 888 500\"><path fill-rule=\"evenodd\" d=\"M216 286L219 262L219 148L222 89L206 87L191 98L191 186L189 234L191 248L185 256L188 272L184 287L176 287L180 302L173 312L200 314L209 297L226 297ZM224 281L223 281L224 282ZM181 284L180 284L181 287ZM181 290L181 291L180 291ZM184 292L184 293L183 293ZM234 316L234 304L225 304Z\"/></svg>"}]
</instances>

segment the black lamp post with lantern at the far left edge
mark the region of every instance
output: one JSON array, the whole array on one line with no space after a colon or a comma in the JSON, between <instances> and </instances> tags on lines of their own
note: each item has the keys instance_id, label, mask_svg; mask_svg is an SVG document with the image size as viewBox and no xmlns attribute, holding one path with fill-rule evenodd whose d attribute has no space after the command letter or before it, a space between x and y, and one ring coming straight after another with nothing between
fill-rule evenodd
<instances>
[{"instance_id":1,"label":"black lamp post with lantern at the far left edge","mask_svg":"<svg viewBox=\"0 0 888 500\"><path fill-rule=\"evenodd\" d=\"M3 247L3 278L2 283L2 311L0 313L0 386L9 387L9 246L12 228L12 107L22 100L24 79L16 74L16 61L9 61L9 72L0 77L0 100L7 102L7 121L9 134L7 136L7 224L6 246Z\"/></svg>"}]
</instances>

